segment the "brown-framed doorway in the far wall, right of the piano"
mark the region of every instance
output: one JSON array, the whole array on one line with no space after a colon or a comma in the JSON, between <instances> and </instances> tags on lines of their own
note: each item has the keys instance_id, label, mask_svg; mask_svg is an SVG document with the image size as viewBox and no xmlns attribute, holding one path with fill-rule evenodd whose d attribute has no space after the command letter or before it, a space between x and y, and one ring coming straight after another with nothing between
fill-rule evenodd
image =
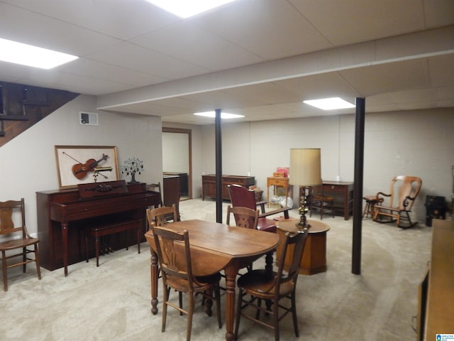
<instances>
[{"instance_id":1,"label":"brown-framed doorway in the far wall, right of the piano","mask_svg":"<svg viewBox=\"0 0 454 341\"><path fill-rule=\"evenodd\" d=\"M180 200L192 198L192 131L162 127L162 175L179 176Z\"/></svg>"}]
</instances>

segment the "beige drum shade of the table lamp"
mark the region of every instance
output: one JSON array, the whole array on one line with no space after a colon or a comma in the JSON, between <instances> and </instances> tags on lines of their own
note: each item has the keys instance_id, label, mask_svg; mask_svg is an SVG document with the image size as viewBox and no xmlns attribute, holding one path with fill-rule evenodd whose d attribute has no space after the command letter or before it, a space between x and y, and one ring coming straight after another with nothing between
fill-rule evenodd
<instances>
[{"instance_id":1,"label":"beige drum shade of the table lamp","mask_svg":"<svg viewBox=\"0 0 454 341\"><path fill-rule=\"evenodd\" d=\"M290 149L290 185L321 185L320 148Z\"/></svg>"}]
</instances>

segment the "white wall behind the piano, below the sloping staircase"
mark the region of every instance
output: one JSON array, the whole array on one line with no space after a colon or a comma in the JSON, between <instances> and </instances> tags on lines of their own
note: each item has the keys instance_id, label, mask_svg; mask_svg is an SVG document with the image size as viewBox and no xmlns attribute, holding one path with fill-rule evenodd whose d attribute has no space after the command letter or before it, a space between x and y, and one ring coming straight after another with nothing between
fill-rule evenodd
<instances>
[{"instance_id":1,"label":"white wall behind the piano, below the sloping staircase","mask_svg":"<svg viewBox=\"0 0 454 341\"><path fill-rule=\"evenodd\" d=\"M0 201L25 198L29 232L37 231L35 193L59 187L55 145L116 146L118 166L136 156L145 165L137 180L162 180L160 117L98 112L99 126L79 124L79 112L95 108L95 97L81 95L0 148Z\"/></svg>"}]
</instances>

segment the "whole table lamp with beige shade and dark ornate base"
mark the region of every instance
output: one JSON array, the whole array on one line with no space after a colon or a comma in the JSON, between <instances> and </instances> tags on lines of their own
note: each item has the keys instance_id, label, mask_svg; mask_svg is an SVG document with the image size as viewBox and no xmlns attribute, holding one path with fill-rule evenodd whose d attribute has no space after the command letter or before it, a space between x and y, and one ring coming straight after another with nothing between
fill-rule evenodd
<instances>
[{"instance_id":1,"label":"whole table lamp with beige shade and dark ornate base","mask_svg":"<svg viewBox=\"0 0 454 341\"><path fill-rule=\"evenodd\" d=\"M290 149L290 185L303 188L300 198L299 214L301 215L297 227L309 228L306 222L306 189L321 185L320 148L291 148Z\"/></svg>"}]
</instances>

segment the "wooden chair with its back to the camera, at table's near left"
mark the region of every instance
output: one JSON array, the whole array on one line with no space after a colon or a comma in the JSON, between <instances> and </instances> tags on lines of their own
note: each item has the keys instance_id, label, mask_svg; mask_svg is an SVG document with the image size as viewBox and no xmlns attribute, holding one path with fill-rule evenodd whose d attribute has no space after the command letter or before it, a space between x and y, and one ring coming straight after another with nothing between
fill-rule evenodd
<instances>
[{"instance_id":1,"label":"wooden chair with its back to the camera, at table's near left","mask_svg":"<svg viewBox=\"0 0 454 341\"><path fill-rule=\"evenodd\" d=\"M189 233L175 232L165 227L151 227L157 249L157 259L162 272L162 332L165 332L167 307L170 306L187 315L186 340L191 340L192 317L196 296L201 294L206 299L207 313L211 315L211 303L216 301L218 327L221 322L221 299L219 281L221 274L198 277L192 274L191 249L189 248ZM179 304L170 301L170 289L179 292ZM182 293L187 294L187 309L182 308Z\"/></svg>"}]
</instances>

